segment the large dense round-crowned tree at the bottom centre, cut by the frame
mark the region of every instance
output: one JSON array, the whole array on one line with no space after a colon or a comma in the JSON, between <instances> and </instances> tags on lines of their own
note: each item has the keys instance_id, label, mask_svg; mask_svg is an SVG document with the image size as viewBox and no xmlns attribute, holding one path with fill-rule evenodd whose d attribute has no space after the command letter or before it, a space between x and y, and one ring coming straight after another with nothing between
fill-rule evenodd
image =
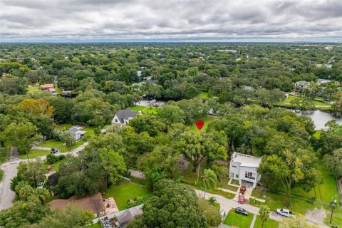
<instances>
[{"instance_id":1,"label":"large dense round-crowned tree at the bottom centre, cut by the frame","mask_svg":"<svg viewBox=\"0 0 342 228\"><path fill-rule=\"evenodd\" d=\"M142 212L139 227L207 227L195 190L170 180L157 183L154 195L142 206ZM133 221L130 227L138 227L135 225Z\"/></svg>"}]
</instances>

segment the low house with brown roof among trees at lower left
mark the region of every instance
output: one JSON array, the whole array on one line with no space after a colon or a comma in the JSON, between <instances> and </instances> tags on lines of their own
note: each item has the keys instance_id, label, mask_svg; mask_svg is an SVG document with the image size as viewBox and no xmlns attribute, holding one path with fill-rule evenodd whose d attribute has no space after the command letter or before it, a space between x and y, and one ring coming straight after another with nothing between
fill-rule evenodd
<instances>
[{"instance_id":1,"label":"low house with brown roof among trees at lower left","mask_svg":"<svg viewBox=\"0 0 342 228\"><path fill-rule=\"evenodd\" d=\"M105 201L100 192L90 197L77 198L73 196L69 199L55 199L50 202L49 207L51 211L55 209L63 210L66 209L68 204L76 204L84 210L92 212L95 217L105 214Z\"/></svg>"}]
</instances>

